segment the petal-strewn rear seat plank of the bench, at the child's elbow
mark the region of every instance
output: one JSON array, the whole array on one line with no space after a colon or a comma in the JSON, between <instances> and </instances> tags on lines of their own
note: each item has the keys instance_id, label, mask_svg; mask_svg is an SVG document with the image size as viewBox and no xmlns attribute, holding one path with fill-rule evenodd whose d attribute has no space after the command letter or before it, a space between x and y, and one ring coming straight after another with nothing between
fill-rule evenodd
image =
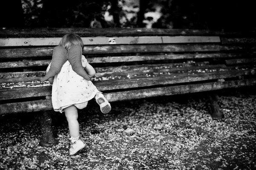
<instances>
[{"instance_id":1,"label":"petal-strewn rear seat plank of the bench, at the child's elbow","mask_svg":"<svg viewBox=\"0 0 256 170\"><path fill-rule=\"evenodd\" d=\"M202 64L200 64L202 63ZM193 63L192 63L193 64ZM255 68L254 65L239 65L229 66L226 65L207 65L204 62L197 62L195 65L177 63L177 65L133 65L133 66L119 66L119 67L106 67L96 68L96 78L101 77L116 77L116 76L128 76L128 75L145 75L145 74L161 74L161 73L198 73L198 72L211 72L221 70L232 70L232 69L250 69ZM23 85L26 82L38 82L41 77L34 77L35 75L44 75L45 71L31 71L31 72L16 72L16 73L0 73L0 77L11 77L2 78L0 83L19 83ZM32 75L33 77L27 77ZM15 78L14 78L15 77ZM94 79L94 78L93 78ZM40 83L40 82L39 82ZM3 85L0 85L0 88ZM4 85L6 86L6 85Z\"/></svg>"}]
</instances>

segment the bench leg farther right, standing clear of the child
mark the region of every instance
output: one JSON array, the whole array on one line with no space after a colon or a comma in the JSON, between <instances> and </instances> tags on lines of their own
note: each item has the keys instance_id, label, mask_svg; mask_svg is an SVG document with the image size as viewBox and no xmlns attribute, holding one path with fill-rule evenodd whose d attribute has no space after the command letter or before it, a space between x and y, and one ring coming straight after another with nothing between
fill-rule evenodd
<instances>
[{"instance_id":1,"label":"bench leg farther right, standing clear of the child","mask_svg":"<svg viewBox=\"0 0 256 170\"><path fill-rule=\"evenodd\" d=\"M209 99L211 101L211 109L212 109L212 119L223 119L224 113L220 111L219 105L218 105L218 95L217 94L210 94Z\"/></svg>"}]
</instances>

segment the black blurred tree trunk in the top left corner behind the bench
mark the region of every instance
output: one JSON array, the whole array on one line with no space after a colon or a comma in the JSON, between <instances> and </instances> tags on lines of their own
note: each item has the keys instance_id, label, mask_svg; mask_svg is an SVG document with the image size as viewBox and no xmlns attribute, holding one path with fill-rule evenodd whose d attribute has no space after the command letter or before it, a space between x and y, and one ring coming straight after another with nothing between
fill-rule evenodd
<instances>
[{"instance_id":1,"label":"black blurred tree trunk in the top left corner behind the bench","mask_svg":"<svg viewBox=\"0 0 256 170\"><path fill-rule=\"evenodd\" d=\"M24 16L21 0L2 0L0 8L1 29L24 27Z\"/></svg>"}]
</instances>

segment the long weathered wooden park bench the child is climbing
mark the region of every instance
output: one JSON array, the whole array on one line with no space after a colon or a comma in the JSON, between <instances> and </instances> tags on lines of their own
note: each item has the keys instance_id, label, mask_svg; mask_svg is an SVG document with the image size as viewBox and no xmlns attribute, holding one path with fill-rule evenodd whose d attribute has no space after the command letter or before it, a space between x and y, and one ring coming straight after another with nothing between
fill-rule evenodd
<instances>
[{"instance_id":1,"label":"long weathered wooden park bench the child is climbing","mask_svg":"<svg viewBox=\"0 0 256 170\"><path fill-rule=\"evenodd\" d=\"M256 33L167 29L38 28L0 31L0 115L52 110L40 82L68 33L84 41L93 83L110 102L256 85Z\"/></svg>"}]
</instances>

